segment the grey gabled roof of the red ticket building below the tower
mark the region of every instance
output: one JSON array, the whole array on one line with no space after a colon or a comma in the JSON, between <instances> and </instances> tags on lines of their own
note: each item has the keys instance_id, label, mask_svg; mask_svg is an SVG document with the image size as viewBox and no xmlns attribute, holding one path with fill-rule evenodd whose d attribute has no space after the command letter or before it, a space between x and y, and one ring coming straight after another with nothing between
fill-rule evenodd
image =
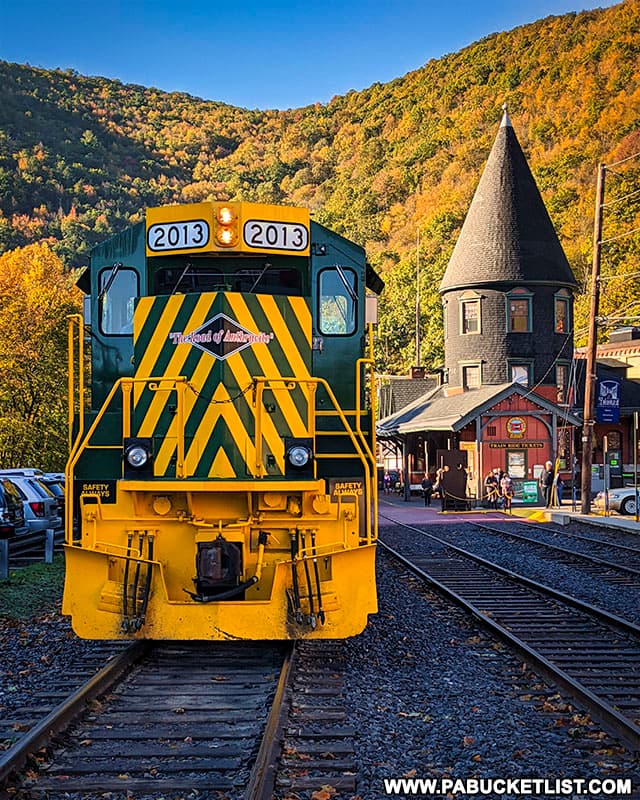
<instances>
[{"instance_id":1,"label":"grey gabled roof of the red ticket building below the tower","mask_svg":"<svg viewBox=\"0 0 640 800\"><path fill-rule=\"evenodd\" d=\"M420 431L460 431L476 417L513 394L526 397L543 411L561 413L563 419L571 425L581 424L573 414L560 409L519 383L481 386L478 389L448 396L446 388L440 386L427 392L397 414L380 420L376 426L377 436L380 439L389 439Z\"/></svg>"}]
</instances>

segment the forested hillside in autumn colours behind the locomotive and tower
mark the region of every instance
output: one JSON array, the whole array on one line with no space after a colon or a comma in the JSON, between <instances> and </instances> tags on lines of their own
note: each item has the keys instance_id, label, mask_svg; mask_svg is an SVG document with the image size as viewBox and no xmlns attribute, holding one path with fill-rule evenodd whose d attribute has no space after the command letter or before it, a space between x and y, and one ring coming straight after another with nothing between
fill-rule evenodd
<instances>
[{"instance_id":1,"label":"forested hillside in autumn colours behind the locomotive and tower","mask_svg":"<svg viewBox=\"0 0 640 800\"><path fill-rule=\"evenodd\" d=\"M497 33L390 83L289 111L0 62L0 252L50 240L78 266L148 205L306 205L384 274L378 355L397 371L415 357L419 231L422 361L434 365L437 287L505 102L584 289L597 164L640 152L640 0ZM616 172L607 198L631 196L607 207L607 239L640 228L640 158ZM636 272L639 250L638 235L616 238L605 274ZM633 313L637 285L608 282L603 313Z\"/></svg>"}]
</instances>

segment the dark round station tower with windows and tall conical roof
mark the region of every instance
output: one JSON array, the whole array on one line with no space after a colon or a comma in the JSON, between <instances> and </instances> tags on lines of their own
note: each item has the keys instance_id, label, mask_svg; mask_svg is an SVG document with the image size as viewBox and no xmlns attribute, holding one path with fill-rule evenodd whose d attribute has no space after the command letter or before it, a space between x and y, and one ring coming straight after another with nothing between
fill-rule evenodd
<instances>
[{"instance_id":1,"label":"dark round station tower with windows and tall conical roof","mask_svg":"<svg viewBox=\"0 0 640 800\"><path fill-rule=\"evenodd\" d=\"M516 380L563 402L576 286L505 108L440 284L450 386Z\"/></svg>"}]
</instances>

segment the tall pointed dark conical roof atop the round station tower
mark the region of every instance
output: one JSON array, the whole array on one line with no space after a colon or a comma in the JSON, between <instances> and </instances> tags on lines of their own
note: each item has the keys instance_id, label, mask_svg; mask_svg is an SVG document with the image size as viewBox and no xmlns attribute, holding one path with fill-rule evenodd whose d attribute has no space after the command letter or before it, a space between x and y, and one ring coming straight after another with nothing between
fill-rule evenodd
<instances>
[{"instance_id":1,"label":"tall pointed dark conical roof atop the round station tower","mask_svg":"<svg viewBox=\"0 0 640 800\"><path fill-rule=\"evenodd\" d=\"M505 111L440 292L576 280Z\"/></svg>"}]
</instances>

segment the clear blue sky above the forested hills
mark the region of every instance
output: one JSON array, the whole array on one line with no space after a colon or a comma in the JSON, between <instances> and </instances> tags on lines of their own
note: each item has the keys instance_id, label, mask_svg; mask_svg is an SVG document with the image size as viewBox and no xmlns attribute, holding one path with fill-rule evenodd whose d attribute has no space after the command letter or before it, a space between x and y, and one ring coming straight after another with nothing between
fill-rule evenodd
<instances>
[{"instance_id":1,"label":"clear blue sky above the forested hills","mask_svg":"<svg viewBox=\"0 0 640 800\"><path fill-rule=\"evenodd\" d=\"M0 59L246 108L326 103L593 0L0 0Z\"/></svg>"}]
</instances>

